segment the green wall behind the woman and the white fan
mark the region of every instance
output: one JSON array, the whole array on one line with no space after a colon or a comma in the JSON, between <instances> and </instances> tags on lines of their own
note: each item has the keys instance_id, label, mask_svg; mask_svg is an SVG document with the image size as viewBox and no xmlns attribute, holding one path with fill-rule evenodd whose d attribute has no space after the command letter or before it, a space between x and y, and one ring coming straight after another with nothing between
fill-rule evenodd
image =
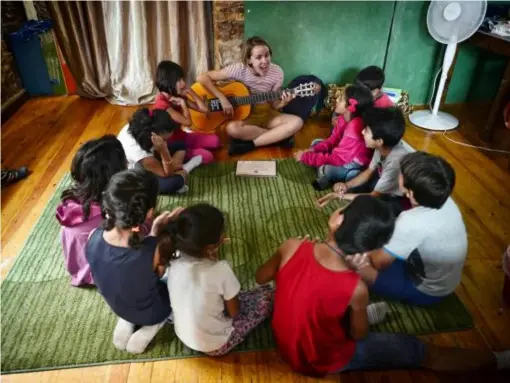
<instances>
[{"instance_id":1,"label":"green wall behind the woman and the white fan","mask_svg":"<svg viewBox=\"0 0 510 383\"><path fill-rule=\"evenodd\" d=\"M245 36L267 39L286 82L312 73L325 83L345 83L360 68L386 60L385 85L426 104L444 52L428 33L427 9L422 1L246 1ZM505 64L504 57L461 44L447 102L491 100Z\"/></svg>"}]
</instances>

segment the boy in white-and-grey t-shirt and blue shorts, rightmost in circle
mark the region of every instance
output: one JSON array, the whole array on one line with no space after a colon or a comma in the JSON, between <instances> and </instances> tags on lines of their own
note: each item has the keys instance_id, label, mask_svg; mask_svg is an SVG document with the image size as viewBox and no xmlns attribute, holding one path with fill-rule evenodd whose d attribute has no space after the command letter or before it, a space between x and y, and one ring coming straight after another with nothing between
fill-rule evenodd
<instances>
[{"instance_id":1,"label":"boy in white-and-grey t-shirt and blue shorts, rightmost in circle","mask_svg":"<svg viewBox=\"0 0 510 383\"><path fill-rule=\"evenodd\" d=\"M417 305L439 302L459 285L467 254L462 215L451 199L455 171L444 159L424 152L400 163L400 189L412 209L400 214L384 249L350 258L376 294Z\"/></svg>"}]
</instances>

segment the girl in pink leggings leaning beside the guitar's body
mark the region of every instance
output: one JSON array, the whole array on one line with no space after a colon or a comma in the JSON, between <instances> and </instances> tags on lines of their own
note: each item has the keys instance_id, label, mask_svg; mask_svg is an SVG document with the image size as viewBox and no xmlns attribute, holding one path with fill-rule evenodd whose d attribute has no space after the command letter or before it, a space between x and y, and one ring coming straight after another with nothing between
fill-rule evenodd
<instances>
[{"instance_id":1,"label":"girl in pink leggings leaning beside the guitar's body","mask_svg":"<svg viewBox=\"0 0 510 383\"><path fill-rule=\"evenodd\" d=\"M173 61L161 61L156 71L156 95L154 109L163 109L170 114L172 120L182 126L191 126L189 108L206 113L205 102L187 86L184 81L184 70ZM188 99L190 96L192 100ZM214 161L213 150L220 147L220 138L216 134L201 132L185 132L177 128L170 143L182 142L186 145L186 160L195 156L202 156L202 163Z\"/></svg>"}]
</instances>

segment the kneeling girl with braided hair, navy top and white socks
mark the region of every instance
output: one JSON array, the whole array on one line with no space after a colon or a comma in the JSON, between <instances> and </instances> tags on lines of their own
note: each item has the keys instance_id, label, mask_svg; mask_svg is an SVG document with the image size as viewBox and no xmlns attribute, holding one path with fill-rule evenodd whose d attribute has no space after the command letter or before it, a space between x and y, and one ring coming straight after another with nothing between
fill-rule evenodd
<instances>
[{"instance_id":1,"label":"kneeling girl with braided hair, navy top and white socks","mask_svg":"<svg viewBox=\"0 0 510 383\"><path fill-rule=\"evenodd\" d=\"M115 174L103 195L103 227L91 233L86 248L97 288L119 317L113 344L131 353L144 352L170 316L156 236L182 209L158 216L143 237L140 227L152 218L157 196L153 173L132 169Z\"/></svg>"}]
</instances>

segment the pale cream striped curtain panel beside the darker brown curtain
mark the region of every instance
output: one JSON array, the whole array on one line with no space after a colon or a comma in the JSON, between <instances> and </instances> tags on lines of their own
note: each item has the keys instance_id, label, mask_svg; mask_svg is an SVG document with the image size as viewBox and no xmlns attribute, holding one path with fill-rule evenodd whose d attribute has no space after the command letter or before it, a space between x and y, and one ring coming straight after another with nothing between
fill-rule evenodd
<instances>
[{"instance_id":1,"label":"pale cream striped curtain panel beside the darker brown curtain","mask_svg":"<svg viewBox=\"0 0 510 383\"><path fill-rule=\"evenodd\" d=\"M208 22L203 1L102 2L114 104L154 100L156 67L179 63L188 82L209 69Z\"/></svg>"}]
</instances>

